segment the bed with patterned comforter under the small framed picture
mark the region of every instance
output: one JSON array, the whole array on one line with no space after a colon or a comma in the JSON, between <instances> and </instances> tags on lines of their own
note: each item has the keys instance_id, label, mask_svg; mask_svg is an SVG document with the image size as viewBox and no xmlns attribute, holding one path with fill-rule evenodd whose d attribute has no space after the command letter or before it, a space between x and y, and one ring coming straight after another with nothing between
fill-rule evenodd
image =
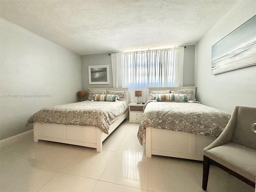
<instances>
[{"instance_id":1,"label":"bed with patterned comforter under the small framed picture","mask_svg":"<svg viewBox=\"0 0 256 192\"><path fill-rule=\"evenodd\" d=\"M86 100L44 108L33 114L26 126L33 123L34 142L47 140L96 148L97 152L102 152L102 142L128 116L129 100L128 88L90 88L89 92L102 94L105 90L123 93L124 99L118 102ZM53 111L54 115L49 117Z\"/></svg>"}]
</instances>

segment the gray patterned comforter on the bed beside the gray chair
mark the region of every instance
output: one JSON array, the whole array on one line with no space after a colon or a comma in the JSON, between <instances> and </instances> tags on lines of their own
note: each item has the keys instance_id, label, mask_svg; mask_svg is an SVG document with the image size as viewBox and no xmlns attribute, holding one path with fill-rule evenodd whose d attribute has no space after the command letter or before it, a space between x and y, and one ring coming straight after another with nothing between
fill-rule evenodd
<instances>
[{"instance_id":1,"label":"gray patterned comforter on the bed beside the gray chair","mask_svg":"<svg viewBox=\"0 0 256 192\"><path fill-rule=\"evenodd\" d=\"M217 138L230 119L230 114L199 103L150 102L147 104L138 139L144 146L146 127L188 132Z\"/></svg>"}]
</instances>

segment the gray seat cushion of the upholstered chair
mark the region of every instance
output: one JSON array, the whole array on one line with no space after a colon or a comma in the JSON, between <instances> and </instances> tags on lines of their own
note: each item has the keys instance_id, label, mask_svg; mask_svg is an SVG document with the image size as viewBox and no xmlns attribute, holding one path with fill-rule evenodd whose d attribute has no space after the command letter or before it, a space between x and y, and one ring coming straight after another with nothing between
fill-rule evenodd
<instances>
[{"instance_id":1,"label":"gray seat cushion of the upholstered chair","mask_svg":"<svg viewBox=\"0 0 256 192\"><path fill-rule=\"evenodd\" d=\"M249 180L255 181L256 150L229 142L210 150L204 150L204 155Z\"/></svg>"}]
</instances>

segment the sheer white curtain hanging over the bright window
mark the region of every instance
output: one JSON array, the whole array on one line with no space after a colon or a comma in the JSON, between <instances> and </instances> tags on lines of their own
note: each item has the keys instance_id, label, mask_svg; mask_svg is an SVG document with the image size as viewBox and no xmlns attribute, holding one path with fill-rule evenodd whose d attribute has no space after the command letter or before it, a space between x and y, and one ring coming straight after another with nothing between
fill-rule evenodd
<instances>
[{"instance_id":1,"label":"sheer white curtain hanging over the bright window","mask_svg":"<svg viewBox=\"0 0 256 192\"><path fill-rule=\"evenodd\" d=\"M113 87L128 87L130 102L141 90L141 102L148 99L148 87L182 86L184 47L111 54Z\"/></svg>"}]
</instances>

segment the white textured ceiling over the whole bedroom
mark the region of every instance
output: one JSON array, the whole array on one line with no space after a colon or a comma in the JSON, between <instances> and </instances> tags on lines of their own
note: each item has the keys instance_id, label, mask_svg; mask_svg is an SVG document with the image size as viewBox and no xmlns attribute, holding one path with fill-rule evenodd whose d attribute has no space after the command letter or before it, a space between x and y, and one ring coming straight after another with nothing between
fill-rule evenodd
<instances>
[{"instance_id":1,"label":"white textured ceiling over the whole bedroom","mask_svg":"<svg viewBox=\"0 0 256 192\"><path fill-rule=\"evenodd\" d=\"M196 44L237 0L1 0L0 16L80 55Z\"/></svg>"}]
</instances>

